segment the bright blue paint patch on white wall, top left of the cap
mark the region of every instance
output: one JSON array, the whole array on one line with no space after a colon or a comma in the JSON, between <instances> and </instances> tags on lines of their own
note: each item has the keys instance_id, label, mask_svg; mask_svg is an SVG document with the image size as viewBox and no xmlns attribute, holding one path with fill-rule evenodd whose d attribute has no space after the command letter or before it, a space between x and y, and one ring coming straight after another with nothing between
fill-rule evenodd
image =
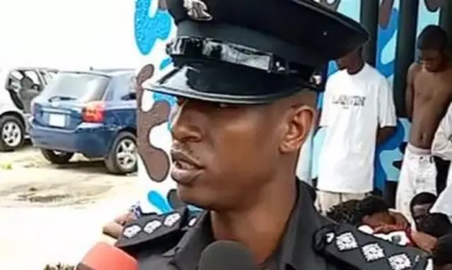
<instances>
[{"instance_id":1,"label":"bright blue paint patch on white wall, top left of the cap","mask_svg":"<svg viewBox=\"0 0 452 270\"><path fill-rule=\"evenodd\" d=\"M135 1L135 42L143 55L152 51L157 39L167 39L172 27L168 11L157 8L154 16L149 16L152 1L156 0Z\"/></svg>"}]
</instances>

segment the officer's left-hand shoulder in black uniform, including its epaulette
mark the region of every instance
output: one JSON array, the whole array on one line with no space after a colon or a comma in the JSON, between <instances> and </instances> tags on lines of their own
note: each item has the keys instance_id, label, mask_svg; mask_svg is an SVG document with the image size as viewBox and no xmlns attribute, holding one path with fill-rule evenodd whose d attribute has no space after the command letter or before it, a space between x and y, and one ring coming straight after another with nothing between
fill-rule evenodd
<instances>
[{"instance_id":1,"label":"officer's left-hand shoulder in black uniform, including its epaulette","mask_svg":"<svg viewBox=\"0 0 452 270\"><path fill-rule=\"evenodd\" d=\"M143 249L143 245L146 248L177 245L197 217L198 213L184 208L129 221L124 226L116 246L133 256Z\"/></svg>"}]
</instances>

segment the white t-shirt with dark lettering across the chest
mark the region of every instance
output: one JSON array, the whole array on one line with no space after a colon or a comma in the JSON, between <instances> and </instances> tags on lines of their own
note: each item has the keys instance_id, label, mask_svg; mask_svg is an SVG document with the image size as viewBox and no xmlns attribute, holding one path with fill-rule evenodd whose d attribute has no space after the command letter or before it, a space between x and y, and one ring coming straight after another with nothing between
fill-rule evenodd
<instances>
[{"instance_id":1,"label":"white t-shirt with dark lettering across the chest","mask_svg":"<svg viewBox=\"0 0 452 270\"><path fill-rule=\"evenodd\" d=\"M339 70L325 87L320 125L326 126L319 157L317 188L329 192L373 190L377 129L396 126L388 80L364 65L350 75Z\"/></svg>"}]
</instances>

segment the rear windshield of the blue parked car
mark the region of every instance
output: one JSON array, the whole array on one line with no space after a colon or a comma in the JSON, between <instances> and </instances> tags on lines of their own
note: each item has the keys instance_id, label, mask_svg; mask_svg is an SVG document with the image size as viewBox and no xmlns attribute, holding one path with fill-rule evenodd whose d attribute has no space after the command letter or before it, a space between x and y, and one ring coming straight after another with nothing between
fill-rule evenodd
<instances>
[{"instance_id":1,"label":"rear windshield of the blue parked car","mask_svg":"<svg viewBox=\"0 0 452 270\"><path fill-rule=\"evenodd\" d=\"M102 99L109 78L91 73L59 73L42 92L50 102L78 100L92 102Z\"/></svg>"}]
</instances>

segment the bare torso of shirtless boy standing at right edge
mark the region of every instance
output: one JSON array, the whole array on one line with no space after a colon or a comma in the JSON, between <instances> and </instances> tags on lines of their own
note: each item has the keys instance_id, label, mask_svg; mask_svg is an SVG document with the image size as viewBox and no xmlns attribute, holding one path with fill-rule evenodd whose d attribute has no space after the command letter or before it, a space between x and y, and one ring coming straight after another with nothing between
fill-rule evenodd
<instances>
[{"instance_id":1,"label":"bare torso of shirtless boy standing at right edge","mask_svg":"<svg viewBox=\"0 0 452 270\"><path fill-rule=\"evenodd\" d=\"M413 110L410 144L430 149L439 122L452 99L452 67L430 73L416 66L412 74Z\"/></svg>"}]
</instances>

